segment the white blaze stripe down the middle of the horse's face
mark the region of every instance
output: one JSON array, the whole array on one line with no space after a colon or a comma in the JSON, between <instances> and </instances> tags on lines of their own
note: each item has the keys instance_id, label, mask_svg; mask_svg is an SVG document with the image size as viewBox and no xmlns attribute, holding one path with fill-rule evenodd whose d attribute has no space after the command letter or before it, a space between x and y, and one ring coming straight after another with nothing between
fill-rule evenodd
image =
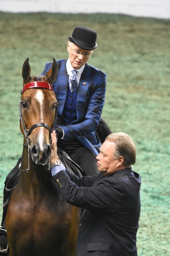
<instances>
[{"instance_id":1,"label":"white blaze stripe down the middle of the horse's face","mask_svg":"<svg viewBox=\"0 0 170 256\"><path fill-rule=\"evenodd\" d=\"M43 102L45 99L45 95L43 94L42 90L37 90L37 93L35 94L34 98L37 100L39 103L39 116L40 116L40 121L43 123L44 122L44 116L43 116ZM44 144L44 133L43 133L43 127L40 127L40 132L39 132L39 138L37 141L39 142L39 147L40 151L43 152L43 144Z\"/></svg>"}]
</instances>

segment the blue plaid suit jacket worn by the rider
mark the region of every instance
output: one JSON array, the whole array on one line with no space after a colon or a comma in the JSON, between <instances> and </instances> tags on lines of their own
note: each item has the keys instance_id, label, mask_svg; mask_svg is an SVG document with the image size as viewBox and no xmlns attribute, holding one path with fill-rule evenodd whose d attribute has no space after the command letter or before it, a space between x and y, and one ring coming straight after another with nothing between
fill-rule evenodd
<instances>
[{"instance_id":1,"label":"blue plaid suit jacket worn by the rider","mask_svg":"<svg viewBox=\"0 0 170 256\"><path fill-rule=\"evenodd\" d=\"M53 89L58 101L56 124L64 130L64 139L77 138L93 155L100 152L100 140L96 128L100 121L106 92L106 74L87 63L81 75L77 91L77 120L66 124L63 109L67 99L69 77L67 60L57 60L57 76ZM52 62L46 63L41 75L46 75Z\"/></svg>"}]
</instances>

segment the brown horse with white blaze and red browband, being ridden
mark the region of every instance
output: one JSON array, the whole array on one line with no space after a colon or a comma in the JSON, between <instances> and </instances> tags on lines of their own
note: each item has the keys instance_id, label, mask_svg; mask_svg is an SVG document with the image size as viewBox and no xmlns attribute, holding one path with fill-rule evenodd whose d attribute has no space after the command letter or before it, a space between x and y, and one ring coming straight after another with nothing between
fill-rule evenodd
<instances>
[{"instance_id":1,"label":"brown horse with white blaze and red browband, being ridden","mask_svg":"<svg viewBox=\"0 0 170 256\"><path fill-rule=\"evenodd\" d=\"M50 183L50 134L57 111L52 88L57 74L55 59L46 76L30 74L27 59L22 66L20 174L6 215L9 255L73 256L80 209L65 202Z\"/></svg>"}]
</instances>

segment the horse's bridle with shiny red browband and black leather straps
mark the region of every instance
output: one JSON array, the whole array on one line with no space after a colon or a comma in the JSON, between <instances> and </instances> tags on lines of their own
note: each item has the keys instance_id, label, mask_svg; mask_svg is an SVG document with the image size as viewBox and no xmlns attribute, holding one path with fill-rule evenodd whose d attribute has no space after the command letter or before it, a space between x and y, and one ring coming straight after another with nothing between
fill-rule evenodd
<instances>
[{"instance_id":1,"label":"horse's bridle with shiny red browband and black leather straps","mask_svg":"<svg viewBox=\"0 0 170 256\"><path fill-rule=\"evenodd\" d=\"M22 91L21 91L21 95L22 93L27 90L27 89L31 89L31 88L43 88L43 89L49 89L49 90L53 90L53 87L46 83L46 82L41 82L41 81L35 81L35 82L31 82L31 83L28 83L26 84ZM31 134L31 132L36 128L36 127L39 127L39 126L43 126L43 127L46 127L48 130L49 130L49 133L51 134L51 132L54 130L54 125L55 125L55 120L57 118L57 105L56 105L56 108L55 108L55 118L54 118L54 123L52 125L52 128L50 129L50 127L46 124L46 123L37 123L33 126L30 127L29 131L27 131L26 129L26 126L23 122L23 117L22 117L22 101L20 100L19 102L19 117L20 117L20 126L22 124L22 128L23 128L23 132L24 132L24 136L27 140L27 143L23 143L23 146L27 146L28 147L28 168L26 170L22 170L19 166L19 169L20 171L25 171L25 172L28 172L30 170L30 140L29 140L29 135ZM51 146L51 135L50 135L50 146ZM50 161L49 161L50 162ZM50 169L48 167L48 169Z\"/></svg>"}]
</instances>

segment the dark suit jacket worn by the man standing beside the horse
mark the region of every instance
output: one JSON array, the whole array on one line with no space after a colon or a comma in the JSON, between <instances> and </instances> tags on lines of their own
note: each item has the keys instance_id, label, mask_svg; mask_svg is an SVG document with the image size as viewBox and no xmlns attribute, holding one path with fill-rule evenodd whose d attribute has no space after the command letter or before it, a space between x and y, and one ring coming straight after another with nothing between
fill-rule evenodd
<instances>
[{"instance_id":1,"label":"dark suit jacket worn by the man standing beside the horse","mask_svg":"<svg viewBox=\"0 0 170 256\"><path fill-rule=\"evenodd\" d=\"M107 177L60 171L51 182L68 203L83 209L77 256L137 256L141 180L131 167Z\"/></svg>"}]
</instances>

